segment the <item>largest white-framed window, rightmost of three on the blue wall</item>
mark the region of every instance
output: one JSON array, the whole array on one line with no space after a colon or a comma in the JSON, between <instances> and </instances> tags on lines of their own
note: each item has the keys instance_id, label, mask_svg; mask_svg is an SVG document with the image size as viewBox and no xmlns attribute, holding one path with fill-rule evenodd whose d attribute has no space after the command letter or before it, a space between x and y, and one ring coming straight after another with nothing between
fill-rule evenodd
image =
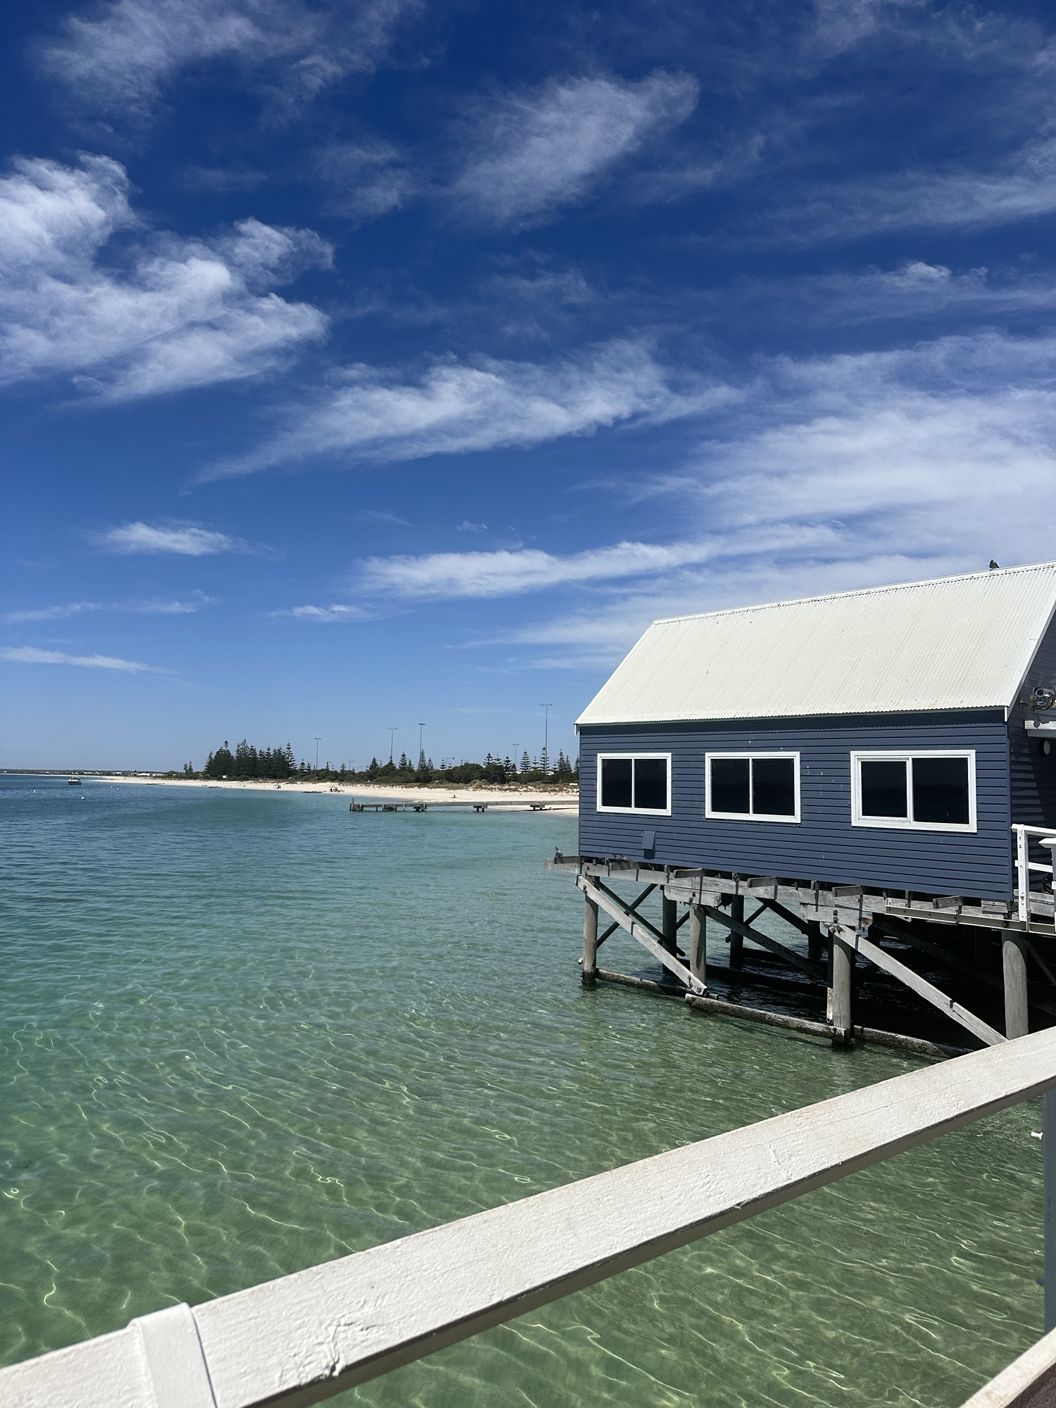
<instances>
[{"instance_id":1,"label":"largest white-framed window, rightmost of three on the blue wall","mask_svg":"<svg viewBox=\"0 0 1056 1408\"><path fill-rule=\"evenodd\" d=\"M855 826L974 831L976 755L852 753L850 821Z\"/></svg>"}]
</instances>

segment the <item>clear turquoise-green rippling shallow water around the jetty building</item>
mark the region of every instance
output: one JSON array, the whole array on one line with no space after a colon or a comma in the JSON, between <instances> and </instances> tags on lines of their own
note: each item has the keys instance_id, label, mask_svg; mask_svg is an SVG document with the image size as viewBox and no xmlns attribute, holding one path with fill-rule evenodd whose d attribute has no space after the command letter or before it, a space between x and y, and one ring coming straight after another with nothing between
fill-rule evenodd
<instances>
[{"instance_id":1,"label":"clear turquoise-green rippling shallow water around the jetty building","mask_svg":"<svg viewBox=\"0 0 1056 1408\"><path fill-rule=\"evenodd\" d=\"M572 819L0 779L0 1363L915 1064L584 993L555 845ZM1041 1333L1039 1121L334 1401L956 1408Z\"/></svg>"}]
</instances>

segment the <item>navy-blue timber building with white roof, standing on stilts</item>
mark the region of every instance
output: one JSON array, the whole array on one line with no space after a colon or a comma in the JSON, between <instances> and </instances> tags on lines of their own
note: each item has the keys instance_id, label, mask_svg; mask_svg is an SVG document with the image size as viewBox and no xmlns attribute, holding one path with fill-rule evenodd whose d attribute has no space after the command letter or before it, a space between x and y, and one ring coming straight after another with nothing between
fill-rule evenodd
<instances>
[{"instance_id":1,"label":"navy-blue timber building with white roof, standing on stilts","mask_svg":"<svg viewBox=\"0 0 1056 1408\"><path fill-rule=\"evenodd\" d=\"M1039 563L655 621L577 721L580 856L1011 901L1055 611Z\"/></svg>"}]
</instances>

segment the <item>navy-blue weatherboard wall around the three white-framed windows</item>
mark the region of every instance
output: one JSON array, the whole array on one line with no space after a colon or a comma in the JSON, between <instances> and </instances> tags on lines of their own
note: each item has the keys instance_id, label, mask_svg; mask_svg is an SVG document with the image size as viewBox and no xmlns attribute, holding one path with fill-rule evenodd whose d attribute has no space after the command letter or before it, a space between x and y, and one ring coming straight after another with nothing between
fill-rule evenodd
<instances>
[{"instance_id":1,"label":"navy-blue weatherboard wall around the three white-framed windows","mask_svg":"<svg viewBox=\"0 0 1056 1408\"><path fill-rule=\"evenodd\" d=\"M583 728L579 850L645 859L643 832L655 831L658 865L1004 900L1012 893L1008 743L998 711ZM852 826L850 752L870 748L974 749L979 829ZM704 753L745 749L800 753L801 822L705 818ZM597 755L610 750L672 753L670 817L597 811Z\"/></svg>"}]
</instances>

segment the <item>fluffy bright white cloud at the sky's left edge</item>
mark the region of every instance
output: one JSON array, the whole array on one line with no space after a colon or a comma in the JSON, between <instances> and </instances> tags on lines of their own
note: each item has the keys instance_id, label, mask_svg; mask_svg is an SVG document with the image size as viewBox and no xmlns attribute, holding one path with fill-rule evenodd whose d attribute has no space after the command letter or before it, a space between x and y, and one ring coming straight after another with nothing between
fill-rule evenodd
<instances>
[{"instance_id":1,"label":"fluffy bright white cloud at the sky's left edge","mask_svg":"<svg viewBox=\"0 0 1056 1408\"><path fill-rule=\"evenodd\" d=\"M111 237L139 230L128 190L106 156L21 161L0 180L0 380L80 373L83 391L125 400L255 376L324 335L317 308L269 291L329 259L311 231L139 231L107 263Z\"/></svg>"}]
</instances>

